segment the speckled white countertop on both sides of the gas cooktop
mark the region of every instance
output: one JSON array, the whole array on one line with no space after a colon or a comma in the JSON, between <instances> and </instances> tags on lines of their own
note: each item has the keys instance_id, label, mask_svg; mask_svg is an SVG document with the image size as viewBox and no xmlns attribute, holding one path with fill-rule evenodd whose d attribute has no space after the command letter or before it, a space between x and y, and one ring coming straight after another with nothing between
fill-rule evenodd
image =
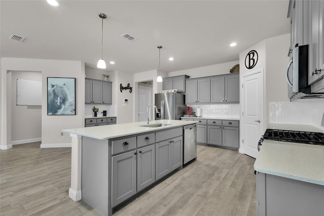
<instances>
[{"instance_id":1,"label":"speckled white countertop on both sides of the gas cooktop","mask_svg":"<svg viewBox=\"0 0 324 216\"><path fill-rule=\"evenodd\" d=\"M270 124L268 128L323 132L312 125ZM254 169L324 186L324 146L264 140Z\"/></svg>"}]
</instances>

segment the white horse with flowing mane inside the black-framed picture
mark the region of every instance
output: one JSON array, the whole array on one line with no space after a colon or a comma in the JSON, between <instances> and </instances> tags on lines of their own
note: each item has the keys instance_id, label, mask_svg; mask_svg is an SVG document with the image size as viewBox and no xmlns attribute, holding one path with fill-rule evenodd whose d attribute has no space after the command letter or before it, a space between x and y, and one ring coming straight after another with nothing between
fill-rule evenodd
<instances>
[{"instance_id":1,"label":"white horse with flowing mane inside the black-framed picture","mask_svg":"<svg viewBox=\"0 0 324 216\"><path fill-rule=\"evenodd\" d=\"M48 114L60 115L69 108L71 102L69 92L65 86L59 84L51 84L51 89L48 91Z\"/></svg>"}]
</instances>

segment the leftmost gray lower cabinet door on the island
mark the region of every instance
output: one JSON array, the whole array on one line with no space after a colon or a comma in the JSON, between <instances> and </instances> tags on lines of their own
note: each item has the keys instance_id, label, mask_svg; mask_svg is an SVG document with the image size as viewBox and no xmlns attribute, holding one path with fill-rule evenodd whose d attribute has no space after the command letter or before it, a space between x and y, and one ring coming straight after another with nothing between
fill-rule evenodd
<instances>
[{"instance_id":1,"label":"leftmost gray lower cabinet door on the island","mask_svg":"<svg viewBox=\"0 0 324 216\"><path fill-rule=\"evenodd\" d=\"M112 207L136 194L136 154L133 150L112 156Z\"/></svg>"}]
</instances>

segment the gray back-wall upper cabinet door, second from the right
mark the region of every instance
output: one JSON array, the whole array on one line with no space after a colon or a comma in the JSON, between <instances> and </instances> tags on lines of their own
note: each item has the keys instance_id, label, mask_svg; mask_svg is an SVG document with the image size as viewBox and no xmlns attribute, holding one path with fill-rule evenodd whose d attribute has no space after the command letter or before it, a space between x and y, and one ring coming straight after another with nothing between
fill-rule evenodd
<instances>
[{"instance_id":1,"label":"gray back-wall upper cabinet door, second from the right","mask_svg":"<svg viewBox=\"0 0 324 216\"><path fill-rule=\"evenodd\" d=\"M223 103L225 101L225 77L216 76L211 78L211 102Z\"/></svg>"}]
</instances>

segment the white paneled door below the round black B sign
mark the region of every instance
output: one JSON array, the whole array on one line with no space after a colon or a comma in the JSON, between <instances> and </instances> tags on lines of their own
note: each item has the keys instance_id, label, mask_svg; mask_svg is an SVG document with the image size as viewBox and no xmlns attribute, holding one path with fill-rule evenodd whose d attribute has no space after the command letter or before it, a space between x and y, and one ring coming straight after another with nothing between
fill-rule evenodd
<instances>
[{"instance_id":1,"label":"white paneled door below the round black B sign","mask_svg":"<svg viewBox=\"0 0 324 216\"><path fill-rule=\"evenodd\" d=\"M257 158L263 135L263 69L242 76L243 153Z\"/></svg>"}]
</instances>

